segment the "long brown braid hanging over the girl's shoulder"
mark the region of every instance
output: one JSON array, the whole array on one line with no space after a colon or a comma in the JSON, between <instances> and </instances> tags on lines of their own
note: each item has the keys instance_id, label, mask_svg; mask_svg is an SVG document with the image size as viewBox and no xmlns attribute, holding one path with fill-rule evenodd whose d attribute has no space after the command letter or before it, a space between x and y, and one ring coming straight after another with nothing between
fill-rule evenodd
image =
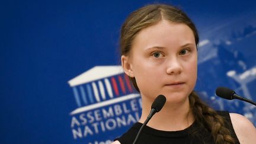
<instances>
[{"instance_id":1,"label":"long brown braid hanging over the girl's shoulder","mask_svg":"<svg viewBox=\"0 0 256 144\"><path fill-rule=\"evenodd\" d=\"M224 118L201 101L194 91L190 94L190 107L195 119L212 133L216 144L235 143L228 128L225 127Z\"/></svg>"}]
</instances>

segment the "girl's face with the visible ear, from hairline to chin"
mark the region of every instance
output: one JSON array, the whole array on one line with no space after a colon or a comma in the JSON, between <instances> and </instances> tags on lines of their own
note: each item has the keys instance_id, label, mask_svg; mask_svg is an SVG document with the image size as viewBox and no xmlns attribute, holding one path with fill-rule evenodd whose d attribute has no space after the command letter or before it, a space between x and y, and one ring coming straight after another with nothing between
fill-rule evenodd
<instances>
[{"instance_id":1,"label":"girl's face with the visible ear, from hairline to chin","mask_svg":"<svg viewBox=\"0 0 256 144\"><path fill-rule=\"evenodd\" d=\"M144 28L121 61L124 72L135 77L142 97L152 101L163 94L167 102L180 103L196 84L196 43L185 24L162 20Z\"/></svg>"}]
</instances>

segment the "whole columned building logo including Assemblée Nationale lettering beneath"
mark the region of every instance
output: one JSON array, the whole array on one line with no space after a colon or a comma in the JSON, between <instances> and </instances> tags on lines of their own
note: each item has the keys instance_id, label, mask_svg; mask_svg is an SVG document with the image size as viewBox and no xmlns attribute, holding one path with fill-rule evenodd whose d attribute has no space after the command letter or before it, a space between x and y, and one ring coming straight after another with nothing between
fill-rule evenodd
<instances>
[{"instance_id":1,"label":"whole columned building logo including Assembl\u00e9e Nationale lettering beneath","mask_svg":"<svg viewBox=\"0 0 256 144\"><path fill-rule=\"evenodd\" d=\"M132 88L121 66L94 66L68 84L78 106L69 113L74 139L111 131L139 120L140 94Z\"/></svg>"}]
</instances>

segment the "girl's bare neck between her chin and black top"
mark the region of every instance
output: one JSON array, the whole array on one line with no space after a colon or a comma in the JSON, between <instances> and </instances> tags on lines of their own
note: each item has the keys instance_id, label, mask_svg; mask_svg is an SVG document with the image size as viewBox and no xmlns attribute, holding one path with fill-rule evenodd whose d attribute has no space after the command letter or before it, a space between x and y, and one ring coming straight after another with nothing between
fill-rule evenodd
<instances>
[{"instance_id":1,"label":"girl's bare neck between her chin and black top","mask_svg":"<svg viewBox=\"0 0 256 144\"><path fill-rule=\"evenodd\" d=\"M146 102L143 101L143 102ZM151 111L151 103L142 103L142 116L139 122L143 123ZM165 103L161 111L156 113L147 126L158 130L176 131L189 127L194 121L188 98L178 104Z\"/></svg>"}]
</instances>

